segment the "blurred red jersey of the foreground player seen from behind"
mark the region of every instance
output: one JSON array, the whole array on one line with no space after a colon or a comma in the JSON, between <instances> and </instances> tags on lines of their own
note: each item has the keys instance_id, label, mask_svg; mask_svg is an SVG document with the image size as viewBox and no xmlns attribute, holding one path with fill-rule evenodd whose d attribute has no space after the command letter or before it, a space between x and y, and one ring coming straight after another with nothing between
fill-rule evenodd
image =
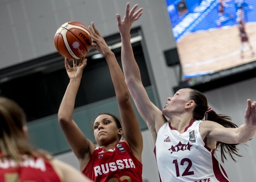
<instances>
[{"instance_id":1,"label":"blurred red jersey of the foreground player seen from behind","mask_svg":"<svg viewBox=\"0 0 256 182\"><path fill-rule=\"evenodd\" d=\"M26 158L19 166L14 160L0 159L0 182L61 182L50 162Z\"/></svg>"}]
</instances>

